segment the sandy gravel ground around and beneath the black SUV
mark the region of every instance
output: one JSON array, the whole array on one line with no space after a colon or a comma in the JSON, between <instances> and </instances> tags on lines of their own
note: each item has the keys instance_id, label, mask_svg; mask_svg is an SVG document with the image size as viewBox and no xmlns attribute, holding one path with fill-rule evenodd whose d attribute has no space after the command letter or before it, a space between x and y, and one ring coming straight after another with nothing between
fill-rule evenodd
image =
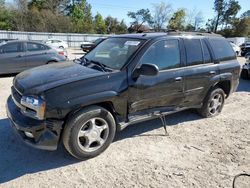
<instances>
[{"instance_id":1,"label":"sandy gravel ground around and beneath the black SUV","mask_svg":"<svg viewBox=\"0 0 250 188\"><path fill-rule=\"evenodd\" d=\"M0 187L231 187L235 175L250 173L250 81L240 80L216 118L168 116L169 136L159 120L130 126L80 162L63 147L36 150L15 136L5 113L12 79L0 79ZM250 179L237 184L250 187Z\"/></svg>"}]
</instances>

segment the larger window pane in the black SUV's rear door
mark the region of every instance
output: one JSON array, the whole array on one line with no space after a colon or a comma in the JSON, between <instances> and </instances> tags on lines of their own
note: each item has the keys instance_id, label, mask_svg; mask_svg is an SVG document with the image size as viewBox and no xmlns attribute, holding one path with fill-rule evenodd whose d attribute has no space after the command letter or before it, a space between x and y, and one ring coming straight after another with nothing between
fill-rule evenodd
<instances>
[{"instance_id":1,"label":"larger window pane in the black SUV's rear door","mask_svg":"<svg viewBox=\"0 0 250 188\"><path fill-rule=\"evenodd\" d=\"M203 58L200 39L185 39L184 43L187 53L187 66L202 64Z\"/></svg>"}]
</instances>

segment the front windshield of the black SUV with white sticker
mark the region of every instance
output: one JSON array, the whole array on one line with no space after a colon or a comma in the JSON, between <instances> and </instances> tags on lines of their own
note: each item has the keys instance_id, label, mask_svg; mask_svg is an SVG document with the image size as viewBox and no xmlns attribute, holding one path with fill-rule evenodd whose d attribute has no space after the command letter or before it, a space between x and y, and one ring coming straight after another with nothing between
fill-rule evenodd
<instances>
[{"instance_id":1,"label":"front windshield of the black SUV with white sticker","mask_svg":"<svg viewBox=\"0 0 250 188\"><path fill-rule=\"evenodd\" d=\"M109 38L84 56L88 61L120 70L141 46L143 40L131 38Z\"/></svg>"}]
</instances>

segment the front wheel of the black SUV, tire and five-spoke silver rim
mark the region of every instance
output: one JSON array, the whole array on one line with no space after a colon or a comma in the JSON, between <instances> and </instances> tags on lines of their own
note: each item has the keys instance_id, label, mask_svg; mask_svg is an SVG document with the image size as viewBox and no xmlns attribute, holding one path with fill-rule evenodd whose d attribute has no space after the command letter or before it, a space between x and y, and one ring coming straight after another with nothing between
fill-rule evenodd
<instances>
[{"instance_id":1,"label":"front wheel of the black SUV, tire and five-spoke silver rim","mask_svg":"<svg viewBox=\"0 0 250 188\"><path fill-rule=\"evenodd\" d=\"M115 137L116 124L112 114L99 106L80 110L65 125L62 139L65 149L84 160L102 153Z\"/></svg>"}]
</instances>

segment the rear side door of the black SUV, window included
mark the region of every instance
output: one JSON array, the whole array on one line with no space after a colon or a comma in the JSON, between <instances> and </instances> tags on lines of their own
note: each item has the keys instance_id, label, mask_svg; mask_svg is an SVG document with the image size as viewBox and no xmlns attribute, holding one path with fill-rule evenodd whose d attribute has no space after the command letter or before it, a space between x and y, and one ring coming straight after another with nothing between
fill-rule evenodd
<instances>
[{"instance_id":1,"label":"rear side door of the black SUV, window included","mask_svg":"<svg viewBox=\"0 0 250 188\"><path fill-rule=\"evenodd\" d=\"M211 50L204 39L184 39L186 51L185 101L186 107L200 105L212 79L219 75L218 64L212 61Z\"/></svg>"}]
</instances>

